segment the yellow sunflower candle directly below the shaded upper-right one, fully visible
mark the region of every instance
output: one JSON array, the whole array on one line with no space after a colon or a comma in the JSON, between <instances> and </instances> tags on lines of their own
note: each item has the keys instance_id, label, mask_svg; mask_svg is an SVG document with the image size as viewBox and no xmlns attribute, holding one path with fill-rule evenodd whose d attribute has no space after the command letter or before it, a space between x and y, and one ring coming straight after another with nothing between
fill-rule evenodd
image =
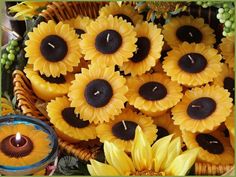
<instances>
[{"instance_id":1,"label":"yellow sunflower candle directly below the shaded upper-right one, fully visible","mask_svg":"<svg viewBox=\"0 0 236 177\"><path fill-rule=\"evenodd\" d=\"M214 48L204 44L184 42L168 52L163 69L171 80L193 87L213 81L221 70L221 55Z\"/></svg>"}]
</instances>

